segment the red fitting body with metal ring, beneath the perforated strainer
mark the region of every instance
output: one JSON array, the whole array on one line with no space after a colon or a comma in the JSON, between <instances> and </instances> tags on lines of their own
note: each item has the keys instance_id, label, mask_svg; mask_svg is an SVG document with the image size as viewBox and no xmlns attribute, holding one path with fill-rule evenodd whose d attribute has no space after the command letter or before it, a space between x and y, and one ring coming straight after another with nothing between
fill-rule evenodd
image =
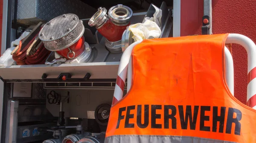
<instances>
[{"instance_id":1,"label":"red fitting body with metal ring, beneath the perforated strainer","mask_svg":"<svg viewBox=\"0 0 256 143\"><path fill-rule=\"evenodd\" d=\"M73 51L75 53L75 56L73 53L69 53L71 51ZM56 51L59 55L65 57L66 59L70 59L69 57L73 57L76 58L78 56L81 55L81 53L84 52L84 36L81 36L81 38L73 45L71 45L69 48L65 48L63 50L58 50ZM68 55L69 54L69 55ZM68 55L68 56L67 56Z\"/></svg>"}]
</instances>

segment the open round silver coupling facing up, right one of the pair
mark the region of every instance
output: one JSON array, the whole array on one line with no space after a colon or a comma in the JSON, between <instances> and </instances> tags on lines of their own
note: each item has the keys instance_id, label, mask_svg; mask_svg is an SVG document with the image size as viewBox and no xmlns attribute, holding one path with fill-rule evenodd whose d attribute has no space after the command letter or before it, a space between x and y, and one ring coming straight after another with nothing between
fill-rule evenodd
<instances>
[{"instance_id":1,"label":"open round silver coupling facing up, right one of the pair","mask_svg":"<svg viewBox=\"0 0 256 143\"><path fill-rule=\"evenodd\" d=\"M118 24L128 23L132 17L132 10L128 6L123 6L121 4L113 6L108 11L108 16L113 22Z\"/></svg>"}]
</instances>

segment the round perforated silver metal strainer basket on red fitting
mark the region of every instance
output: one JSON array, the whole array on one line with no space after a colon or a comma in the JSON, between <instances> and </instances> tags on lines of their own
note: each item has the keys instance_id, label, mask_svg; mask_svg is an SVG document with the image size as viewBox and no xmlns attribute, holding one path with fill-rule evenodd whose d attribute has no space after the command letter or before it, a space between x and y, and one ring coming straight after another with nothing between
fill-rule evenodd
<instances>
[{"instance_id":1,"label":"round perforated silver metal strainer basket on red fitting","mask_svg":"<svg viewBox=\"0 0 256 143\"><path fill-rule=\"evenodd\" d=\"M70 47L84 34L84 25L76 14L63 14L47 22L41 29L39 38L50 51Z\"/></svg>"}]
</instances>

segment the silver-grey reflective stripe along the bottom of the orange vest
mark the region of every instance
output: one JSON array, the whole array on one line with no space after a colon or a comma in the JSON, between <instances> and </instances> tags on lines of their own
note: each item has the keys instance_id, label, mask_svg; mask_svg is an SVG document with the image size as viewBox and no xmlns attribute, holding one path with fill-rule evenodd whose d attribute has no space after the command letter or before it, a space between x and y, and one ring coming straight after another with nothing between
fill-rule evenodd
<instances>
[{"instance_id":1,"label":"silver-grey reflective stripe along the bottom of the orange vest","mask_svg":"<svg viewBox=\"0 0 256 143\"><path fill-rule=\"evenodd\" d=\"M105 138L104 143L236 143L201 137L167 135L114 135Z\"/></svg>"}]
</instances>

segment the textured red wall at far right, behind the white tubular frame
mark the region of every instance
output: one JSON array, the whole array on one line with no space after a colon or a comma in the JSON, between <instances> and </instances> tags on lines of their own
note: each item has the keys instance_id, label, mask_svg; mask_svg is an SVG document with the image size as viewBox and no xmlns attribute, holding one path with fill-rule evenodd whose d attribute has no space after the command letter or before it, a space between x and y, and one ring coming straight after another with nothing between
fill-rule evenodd
<instances>
[{"instance_id":1,"label":"textured red wall at far right, behind the white tubular frame","mask_svg":"<svg viewBox=\"0 0 256 143\"><path fill-rule=\"evenodd\" d=\"M243 34L256 42L255 0L212 0L212 32ZM247 54L243 47L232 45L235 97L246 104Z\"/></svg>"}]
</instances>

